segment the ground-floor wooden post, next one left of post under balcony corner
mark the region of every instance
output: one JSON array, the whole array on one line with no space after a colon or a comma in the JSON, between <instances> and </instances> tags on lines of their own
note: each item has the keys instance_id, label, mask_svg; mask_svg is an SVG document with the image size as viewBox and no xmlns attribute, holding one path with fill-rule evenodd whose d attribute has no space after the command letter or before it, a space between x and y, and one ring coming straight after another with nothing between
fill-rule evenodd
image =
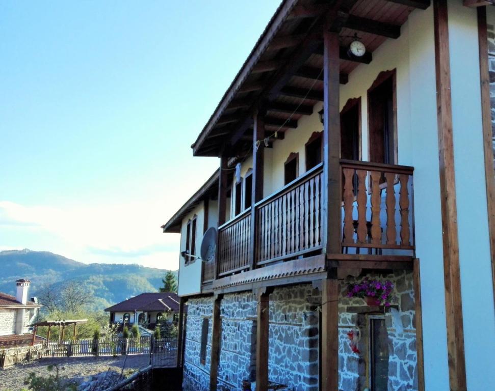
<instances>
[{"instance_id":1,"label":"ground-floor wooden post, next one left of post under balcony corner","mask_svg":"<svg viewBox=\"0 0 495 391\"><path fill-rule=\"evenodd\" d=\"M256 294L256 391L268 390L268 332L270 293L260 289Z\"/></svg>"}]
</instances>

